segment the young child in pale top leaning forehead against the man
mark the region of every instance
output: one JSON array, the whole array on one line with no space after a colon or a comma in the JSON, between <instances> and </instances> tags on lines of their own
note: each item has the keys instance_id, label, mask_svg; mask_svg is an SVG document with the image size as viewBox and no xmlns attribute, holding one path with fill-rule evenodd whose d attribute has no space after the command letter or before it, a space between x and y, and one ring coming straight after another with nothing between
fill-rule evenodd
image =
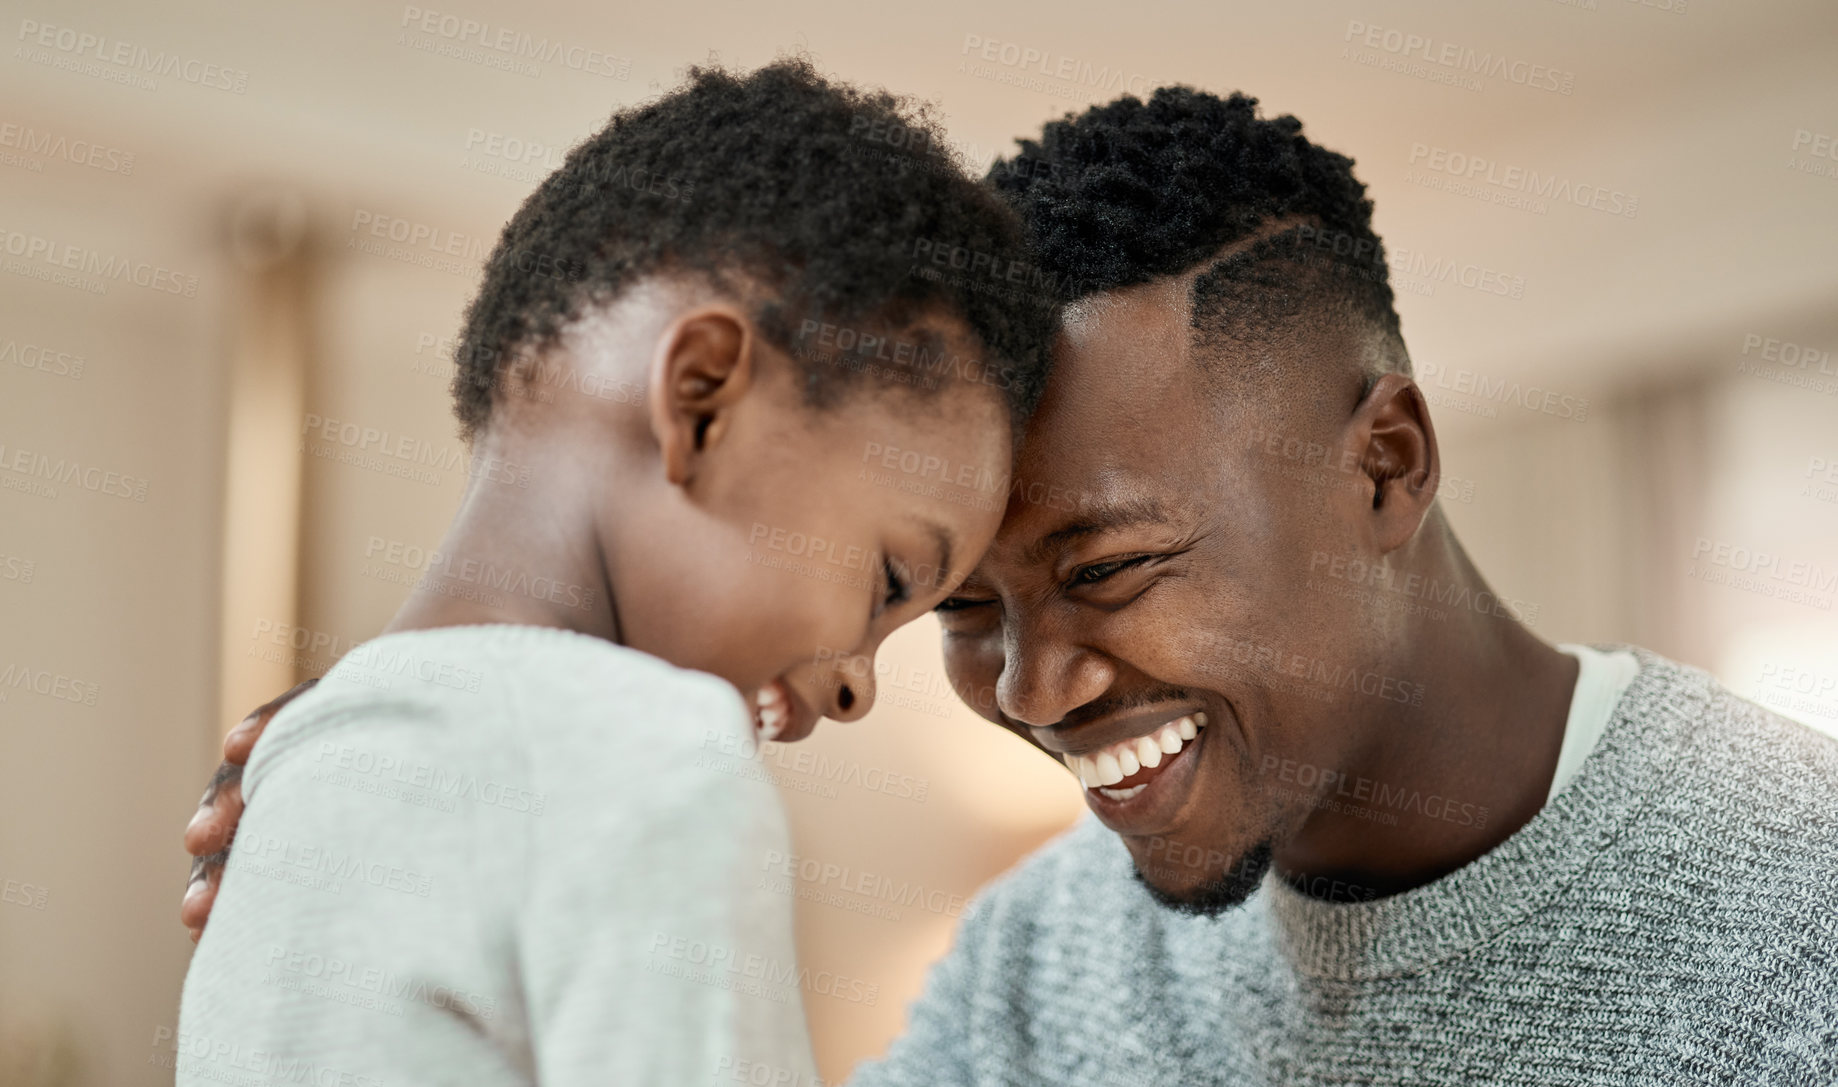
<instances>
[{"instance_id":1,"label":"young child in pale top leaning forehead against the man","mask_svg":"<svg viewBox=\"0 0 1838 1087\"><path fill-rule=\"evenodd\" d=\"M1051 320L915 274L1020 239L936 138L860 154L899 127L934 134L798 61L700 70L511 219L454 381L472 484L390 631L250 758L178 1083L816 1081L757 888L785 818L709 752L868 712L862 658L1004 495L864 462L1005 480Z\"/></svg>"}]
</instances>

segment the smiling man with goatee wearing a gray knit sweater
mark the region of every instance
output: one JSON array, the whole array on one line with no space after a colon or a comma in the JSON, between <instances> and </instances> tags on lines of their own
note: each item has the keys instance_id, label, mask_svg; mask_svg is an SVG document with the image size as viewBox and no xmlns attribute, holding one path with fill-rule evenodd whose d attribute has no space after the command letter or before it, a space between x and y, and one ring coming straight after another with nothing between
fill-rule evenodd
<instances>
[{"instance_id":1,"label":"smiling man with goatee wearing a gray knit sweater","mask_svg":"<svg viewBox=\"0 0 1838 1087\"><path fill-rule=\"evenodd\" d=\"M1086 292L1018 465L1081 500L945 660L1095 818L857 1081L1838 1081L1838 745L1487 589L1351 162L1163 88L993 180Z\"/></svg>"}]
</instances>

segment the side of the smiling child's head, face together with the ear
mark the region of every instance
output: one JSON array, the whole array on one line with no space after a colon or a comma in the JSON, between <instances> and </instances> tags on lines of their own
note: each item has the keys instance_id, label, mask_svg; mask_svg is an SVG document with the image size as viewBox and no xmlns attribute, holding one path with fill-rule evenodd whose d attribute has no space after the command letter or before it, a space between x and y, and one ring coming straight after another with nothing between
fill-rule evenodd
<instances>
[{"instance_id":1,"label":"side of the smiling child's head, face together with the ear","mask_svg":"<svg viewBox=\"0 0 1838 1087\"><path fill-rule=\"evenodd\" d=\"M730 331L715 315L665 333L678 346L652 362L665 395L649 432L669 486L614 506L603 539L625 552L607 555L619 638L730 681L763 738L792 741L820 715L864 715L880 642L989 546L1009 416L998 386L952 373L921 373L937 384L921 390L862 375L812 408L801 364L750 329L733 349ZM976 355L967 331L943 331ZM733 357L748 362L722 370ZM634 515L643 528L612 521Z\"/></svg>"}]
</instances>

